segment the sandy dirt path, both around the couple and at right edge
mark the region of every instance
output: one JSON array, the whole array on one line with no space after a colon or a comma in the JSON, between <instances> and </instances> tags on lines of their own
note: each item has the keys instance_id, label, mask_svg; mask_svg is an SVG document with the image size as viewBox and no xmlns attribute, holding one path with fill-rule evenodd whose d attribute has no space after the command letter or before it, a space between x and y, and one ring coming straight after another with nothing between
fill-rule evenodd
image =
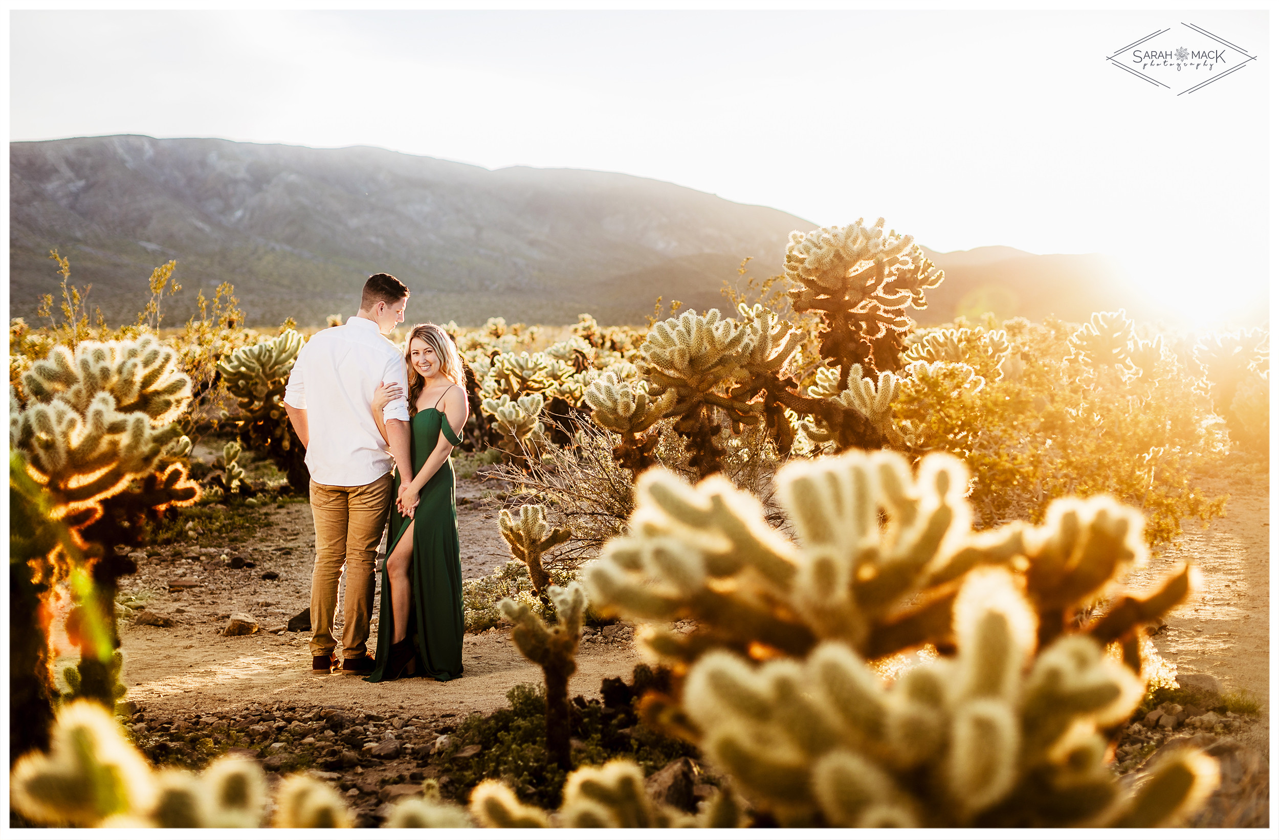
<instances>
[{"instance_id":1,"label":"sandy dirt path, both around the couple and at right edge","mask_svg":"<svg viewBox=\"0 0 1279 840\"><path fill-rule=\"evenodd\" d=\"M1209 490L1230 494L1227 517L1206 531L1189 524L1181 543L1137 570L1131 586L1138 591L1156 586L1182 561L1193 560L1202 573L1202 586L1166 616L1168 628L1155 637L1155 643L1179 673L1209 673L1227 690L1247 689L1265 715L1270 681L1267 486L1264 478L1236 477ZM478 499L481 491L482 486L473 481L460 481L458 486L459 500ZM139 573L122 582L124 596L177 621L173 628L156 628L122 620L130 699L170 713L229 711L251 702L275 701L379 713L403 708L425 713L490 712L506 703L505 693L513 685L540 681L540 670L524 661L506 634L498 630L466 637L463 679L379 685L343 675L313 675L307 648L310 633L220 635L229 612L249 612L263 630L271 630L310 602L315 543L311 509L306 504L272 509L271 522L270 528L255 534L251 545L234 551L174 546L142 561ZM491 509L459 504L458 525L463 577L487 574L509 557ZM217 560L223 551L242 555L256 568L226 569ZM279 579L263 580L265 572L278 573ZM168 582L182 577L194 577L201 586L169 593ZM377 632L376 609L373 615L371 648ZM59 647L64 653L58 664L60 673L61 666L75 662L78 652L65 641ZM633 642L583 644L570 690L595 696L601 679L629 674L638 661Z\"/></svg>"}]
</instances>

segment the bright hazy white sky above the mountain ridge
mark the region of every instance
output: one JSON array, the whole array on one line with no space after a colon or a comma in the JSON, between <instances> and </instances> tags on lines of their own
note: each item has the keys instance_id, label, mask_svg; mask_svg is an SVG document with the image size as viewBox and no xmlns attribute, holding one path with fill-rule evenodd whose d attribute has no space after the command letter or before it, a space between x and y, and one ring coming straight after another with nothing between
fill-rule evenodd
<instances>
[{"instance_id":1,"label":"bright hazy white sky above the mountain ridge","mask_svg":"<svg viewBox=\"0 0 1279 840\"><path fill-rule=\"evenodd\" d=\"M1182 96L1105 60L1183 22L1259 60ZM1266 284L1267 40L1265 12L15 12L10 138L629 173L940 251L1109 253L1209 322Z\"/></svg>"}]
</instances>

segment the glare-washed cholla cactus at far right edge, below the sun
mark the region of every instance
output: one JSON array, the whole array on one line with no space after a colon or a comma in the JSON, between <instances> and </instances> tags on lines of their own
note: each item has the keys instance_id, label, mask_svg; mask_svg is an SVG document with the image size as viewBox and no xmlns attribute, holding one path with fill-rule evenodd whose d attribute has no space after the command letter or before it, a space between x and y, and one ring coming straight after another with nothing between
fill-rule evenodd
<instances>
[{"instance_id":1,"label":"glare-washed cholla cactus at far right edge, below the sun","mask_svg":"<svg viewBox=\"0 0 1279 840\"><path fill-rule=\"evenodd\" d=\"M1248 410L1256 400L1244 396L1239 403L1244 414L1237 413L1234 404L1244 382L1246 393L1252 395L1262 387L1269 390L1267 380L1259 381L1267 368L1269 343L1270 335L1265 330L1236 330L1210 335L1195 348L1195 361L1204 368L1212 409L1225 419L1232 437L1252 447L1267 435L1259 424L1259 412ZM1269 410L1265 413L1265 423L1269 426Z\"/></svg>"}]
</instances>

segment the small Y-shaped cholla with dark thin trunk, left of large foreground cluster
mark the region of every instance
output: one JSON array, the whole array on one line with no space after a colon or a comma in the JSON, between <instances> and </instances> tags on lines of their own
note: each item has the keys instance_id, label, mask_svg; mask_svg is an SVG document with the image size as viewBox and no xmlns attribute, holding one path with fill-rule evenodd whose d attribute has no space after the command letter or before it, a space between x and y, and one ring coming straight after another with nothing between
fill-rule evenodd
<instances>
[{"instance_id":1,"label":"small Y-shaped cholla with dark thin trunk, left of large foreground cluster","mask_svg":"<svg viewBox=\"0 0 1279 840\"><path fill-rule=\"evenodd\" d=\"M577 671L586 591L573 583L568 588L547 587L546 595L555 605L554 626L546 626L527 603L506 598L498 606L515 625L510 632L515 647L524 658L542 669L546 680L546 752L555 763L568 770L573 766L568 680Z\"/></svg>"}]
</instances>

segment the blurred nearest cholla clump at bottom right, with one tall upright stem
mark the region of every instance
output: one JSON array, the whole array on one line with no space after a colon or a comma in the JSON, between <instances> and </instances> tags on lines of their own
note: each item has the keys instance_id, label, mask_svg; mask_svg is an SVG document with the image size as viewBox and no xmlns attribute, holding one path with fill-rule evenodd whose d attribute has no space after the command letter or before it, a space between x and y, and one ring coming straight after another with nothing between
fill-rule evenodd
<instances>
[{"instance_id":1,"label":"blurred nearest cholla clump at bottom right, with one tall upright stem","mask_svg":"<svg viewBox=\"0 0 1279 840\"><path fill-rule=\"evenodd\" d=\"M1183 751L1126 795L1099 730L1145 687L1086 637L1035 656L1035 614L1008 570L964 580L954 637L958 656L891 689L838 642L758 670L711 653L684 708L707 757L784 825L1160 826L1216 786L1215 762Z\"/></svg>"}]
</instances>

